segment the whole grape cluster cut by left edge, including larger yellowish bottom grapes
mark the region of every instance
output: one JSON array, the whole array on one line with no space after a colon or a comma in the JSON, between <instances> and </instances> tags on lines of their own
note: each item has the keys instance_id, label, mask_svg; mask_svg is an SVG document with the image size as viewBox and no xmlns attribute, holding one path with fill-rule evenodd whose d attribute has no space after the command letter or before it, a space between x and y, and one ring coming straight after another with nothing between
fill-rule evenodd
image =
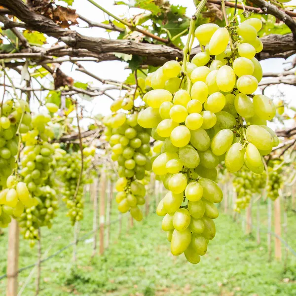
<instances>
[{"instance_id":1,"label":"whole grape cluster cut by left edge, including larger yellowish bottom grapes","mask_svg":"<svg viewBox=\"0 0 296 296\"><path fill-rule=\"evenodd\" d=\"M19 217L24 206L34 203L27 185L17 176L15 163L19 150L17 132L27 132L30 125L31 114L26 101L7 100L3 103L0 109L0 187L4 189L0 192L0 227L7 227L11 217Z\"/></svg>"}]
</instances>

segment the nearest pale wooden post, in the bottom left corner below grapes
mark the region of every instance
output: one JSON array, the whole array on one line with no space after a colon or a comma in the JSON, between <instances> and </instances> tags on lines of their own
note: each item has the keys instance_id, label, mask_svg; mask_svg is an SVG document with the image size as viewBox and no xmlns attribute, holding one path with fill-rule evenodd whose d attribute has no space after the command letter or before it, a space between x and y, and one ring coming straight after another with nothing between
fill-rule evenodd
<instances>
[{"instance_id":1,"label":"nearest pale wooden post, in the bottom left corner below grapes","mask_svg":"<svg viewBox=\"0 0 296 296\"><path fill-rule=\"evenodd\" d=\"M17 221L12 219L9 224L9 230L8 230L6 296L17 295L18 256L19 256L19 227L18 227Z\"/></svg>"}]
</instances>

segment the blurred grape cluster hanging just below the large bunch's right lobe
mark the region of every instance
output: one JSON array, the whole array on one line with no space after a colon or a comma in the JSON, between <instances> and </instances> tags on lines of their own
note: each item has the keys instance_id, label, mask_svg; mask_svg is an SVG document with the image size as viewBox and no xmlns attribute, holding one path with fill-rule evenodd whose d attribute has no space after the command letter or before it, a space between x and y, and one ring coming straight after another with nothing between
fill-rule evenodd
<instances>
[{"instance_id":1,"label":"blurred grape cluster hanging just below the large bunch's right lobe","mask_svg":"<svg viewBox=\"0 0 296 296\"><path fill-rule=\"evenodd\" d=\"M262 188L264 188L266 175L255 174L244 166L241 170L234 173L232 183L237 193L234 211L240 213L241 209L248 207L252 195L260 193Z\"/></svg>"}]
</instances>

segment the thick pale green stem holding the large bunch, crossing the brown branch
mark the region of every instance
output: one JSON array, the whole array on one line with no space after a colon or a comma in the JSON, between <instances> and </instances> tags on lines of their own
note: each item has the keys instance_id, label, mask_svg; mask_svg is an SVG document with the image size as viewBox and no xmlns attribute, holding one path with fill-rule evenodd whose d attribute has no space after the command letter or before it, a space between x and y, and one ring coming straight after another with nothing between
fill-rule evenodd
<instances>
[{"instance_id":1,"label":"thick pale green stem holding the large bunch, crossing the brown branch","mask_svg":"<svg viewBox=\"0 0 296 296\"><path fill-rule=\"evenodd\" d=\"M190 25L189 25L189 33L187 37L187 41L185 44L185 47L183 49L183 65L182 65L182 72L186 76L187 79L187 91L190 92L191 88L191 81L188 73L186 72L186 62L187 62L187 55L189 56L190 50L194 41L194 29L195 29L195 22L197 18L199 17L201 10L206 5L207 0L201 0L199 4L197 5L196 11L191 17ZM191 42L190 42L191 41Z\"/></svg>"}]
</instances>

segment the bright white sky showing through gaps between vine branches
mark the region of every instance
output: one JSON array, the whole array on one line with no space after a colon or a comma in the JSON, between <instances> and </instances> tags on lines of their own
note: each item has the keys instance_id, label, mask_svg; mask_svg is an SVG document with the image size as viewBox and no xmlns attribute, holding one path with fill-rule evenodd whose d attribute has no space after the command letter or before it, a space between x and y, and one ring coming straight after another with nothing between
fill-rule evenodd
<instances>
[{"instance_id":1,"label":"bright white sky showing through gaps between vine branches","mask_svg":"<svg viewBox=\"0 0 296 296\"><path fill-rule=\"evenodd\" d=\"M132 0L130 0L132 1ZM113 5L113 0L97 0L98 3L100 3L104 8L112 12L114 15L123 17L123 16L129 16L134 15L137 13L142 12L143 10L137 9L137 8L131 8L127 9L127 6L125 5ZM172 4L175 5L182 5L187 7L186 14L188 16L192 15L192 12L195 11L195 6L193 4L193 0L170 0ZM291 1L290 3L296 2L296 0ZM60 2L61 4L64 2ZM80 15L88 18L89 20L93 20L95 22L103 22L104 20L108 19L108 16L103 13L100 9L95 7L93 4L88 2L87 0L74 0L73 8L76 9L77 13ZM91 37L104 37L104 38L111 38L114 39L117 37L117 32L111 32L110 35L105 32L104 29L101 28L84 28L87 27L87 24L81 20L79 20L79 26L78 27L72 27L71 29L76 30L78 33L86 36ZM186 37L184 37L185 41ZM54 43L56 41L55 38L48 37L48 42ZM198 45L197 40L194 42L193 47ZM48 45L50 46L50 45ZM292 58L289 58L291 60ZM264 72L274 72L279 73L284 70L285 65L283 65L283 62L286 62L284 59L268 59L261 61L261 66L263 68ZM108 61L108 62L80 62L81 65L91 73L103 77L105 79L111 78L118 81L124 81L126 77L131 73L130 70L125 69L126 66L128 66L125 62L120 61ZM100 86L100 82L98 82L96 79L75 71L77 67L73 66L72 63L66 62L62 64L61 70L68 74L69 76L73 77L74 80L81 81L81 82L88 82L91 83L93 86ZM16 79L19 81L20 77L16 77ZM48 81L46 81L43 78L43 83L48 84ZM19 81L20 82L20 81ZM20 84L20 83L19 83ZM295 101L295 87L294 86L287 86L287 85L279 85L279 86L272 86L266 89L265 94L268 96L272 96L276 91L277 88L280 89L285 94L285 101L290 103L293 100ZM112 90L108 91L108 93L116 98L119 96L119 91ZM81 104L85 107L86 111L91 114L95 115L98 113L101 113L103 115L109 114L110 111L110 105L112 101L107 96L99 96L94 98L91 102L86 100L81 100ZM296 107L296 104L293 103L293 105ZM34 107L33 107L34 108ZM293 114L291 114L293 115ZM87 125L90 123L89 119L85 119L83 122L83 127L86 128ZM291 122L288 122L288 125L291 125Z\"/></svg>"}]
</instances>

